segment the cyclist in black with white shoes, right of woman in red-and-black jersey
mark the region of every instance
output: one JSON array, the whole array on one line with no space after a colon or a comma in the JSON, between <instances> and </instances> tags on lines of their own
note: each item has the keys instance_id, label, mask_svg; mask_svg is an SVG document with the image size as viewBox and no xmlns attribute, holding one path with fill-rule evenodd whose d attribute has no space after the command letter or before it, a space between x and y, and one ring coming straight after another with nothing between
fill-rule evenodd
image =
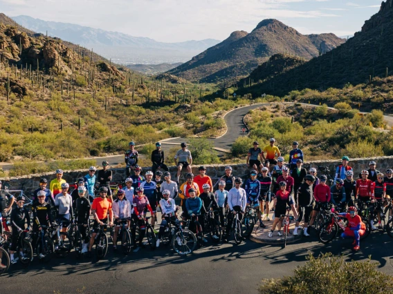
<instances>
[{"instance_id":1,"label":"cyclist in black with white shoes, right of woman in red-and-black jersey","mask_svg":"<svg viewBox=\"0 0 393 294\"><path fill-rule=\"evenodd\" d=\"M316 182L316 178L313 175L306 175L306 177L304 177L304 180L305 182L300 185L298 191L299 217L296 220L293 235L298 235L299 224L304 217L303 235L305 237L309 237L309 233L307 233L307 228L309 226L311 212L313 211L313 182Z\"/></svg>"}]
</instances>

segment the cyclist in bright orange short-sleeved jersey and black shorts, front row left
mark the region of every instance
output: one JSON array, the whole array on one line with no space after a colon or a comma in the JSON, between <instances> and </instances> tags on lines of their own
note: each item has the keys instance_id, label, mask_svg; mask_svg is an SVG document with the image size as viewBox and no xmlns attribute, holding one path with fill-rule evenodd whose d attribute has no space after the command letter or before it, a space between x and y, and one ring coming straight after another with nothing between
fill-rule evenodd
<instances>
[{"instance_id":1,"label":"cyclist in bright orange short-sleeved jersey and black shorts, front row left","mask_svg":"<svg viewBox=\"0 0 393 294\"><path fill-rule=\"evenodd\" d=\"M107 199L108 188L105 186L100 187L98 190L100 197L96 197L91 204L91 214L94 217L93 229L91 230L91 238L89 243L88 255L91 256L91 248L93 247L95 236L100 230L100 225L107 224L109 213L109 225L113 225L113 211L112 202Z\"/></svg>"}]
</instances>

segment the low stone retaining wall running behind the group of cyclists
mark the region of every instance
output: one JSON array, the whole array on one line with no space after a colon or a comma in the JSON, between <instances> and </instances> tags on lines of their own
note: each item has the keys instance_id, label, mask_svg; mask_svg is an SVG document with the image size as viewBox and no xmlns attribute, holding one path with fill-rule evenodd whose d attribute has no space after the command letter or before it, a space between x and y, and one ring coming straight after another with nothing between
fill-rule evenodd
<instances>
[{"instance_id":1,"label":"low stone retaining wall running behind the group of cyclists","mask_svg":"<svg viewBox=\"0 0 393 294\"><path fill-rule=\"evenodd\" d=\"M354 175L357 177L358 173L360 173L361 170L368 168L368 163L369 161L374 160L376 161L376 168L380 170L382 173L385 173L386 168L392 168L393 166L393 156L383 156L383 157L370 157L370 158L356 158L356 159L351 159L349 162L349 166L354 168ZM331 170L331 176L334 176L336 167L340 164L340 160L327 160L327 161L312 161L312 162L305 162L304 167L307 169L309 167L316 167L318 170L318 166L328 166L329 170ZM205 165L206 166L206 174L209 175L212 178L213 184L217 182L219 177L224 175L224 168L225 165L219 164L219 165ZM151 168L143 168L143 174L147 170L150 170ZM249 173L249 169L246 166L246 164L233 164L232 165L233 169L233 175L235 177L247 177ZM172 179L176 177L176 171L177 168L176 166L170 166L170 173L172 174ZM125 168L113 168L113 181L118 182L122 181L125 179ZM194 166L192 168L192 172L194 175L198 174L198 166ZM321 172L318 170L318 174ZM87 170L65 170L64 171L64 179L66 179L67 182L76 182L78 177L83 177L84 175L87 174ZM185 175L185 172L183 173L180 182L184 182L183 176ZM26 190L28 192L36 189L39 186L39 179L41 177L46 177L48 181L51 181L52 179L55 178L55 175L53 173L45 173L42 175L28 175L28 176L21 176L21 177L8 177L8 178L0 178L1 181L6 181L8 184L10 184L10 189L13 190Z\"/></svg>"}]
</instances>

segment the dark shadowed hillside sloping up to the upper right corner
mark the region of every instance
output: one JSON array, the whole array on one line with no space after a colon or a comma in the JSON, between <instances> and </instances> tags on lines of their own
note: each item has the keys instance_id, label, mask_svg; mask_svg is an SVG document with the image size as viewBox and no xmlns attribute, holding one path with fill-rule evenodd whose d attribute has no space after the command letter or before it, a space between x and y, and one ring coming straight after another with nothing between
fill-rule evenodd
<instances>
[{"instance_id":1,"label":"dark shadowed hillside sloping up to the upper right corner","mask_svg":"<svg viewBox=\"0 0 393 294\"><path fill-rule=\"evenodd\" d=\"M286 95L291 90L304 88L323 91L330 87L369 83L374 77L392 75L392 1L383 2L379 12L365 21L361 31L338 48L238 92L259 96L262 93Z\"/></svg>"}]
</instances>

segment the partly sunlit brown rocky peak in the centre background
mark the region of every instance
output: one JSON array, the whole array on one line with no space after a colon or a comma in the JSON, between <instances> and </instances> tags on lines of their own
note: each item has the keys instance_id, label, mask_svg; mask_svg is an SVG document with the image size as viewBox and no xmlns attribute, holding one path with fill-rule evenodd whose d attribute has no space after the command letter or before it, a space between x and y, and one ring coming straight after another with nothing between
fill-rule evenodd
<instances>
[{"instance_id":1,"label":"partly sunlit brown rocky peak in the centre background","mask_svg":"<svg viewBox=\"0 0 393 294\"><path fill-rule=\"evenodd\" d=\"M265 19L249 34L232 32L228 39L170 70L171 75L195 82L221 82L246 77L271 55L286 53L304 59L336 48L344 39L333 34L302 35L275 19Z\"/></svg>"}]
</instances>

